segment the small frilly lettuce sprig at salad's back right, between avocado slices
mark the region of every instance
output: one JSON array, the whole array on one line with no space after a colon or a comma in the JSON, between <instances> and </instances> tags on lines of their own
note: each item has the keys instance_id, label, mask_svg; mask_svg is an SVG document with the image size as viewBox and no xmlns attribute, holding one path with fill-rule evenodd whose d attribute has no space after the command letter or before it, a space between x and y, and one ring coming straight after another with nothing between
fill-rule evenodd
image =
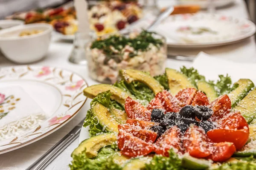
<instances>
[{"instance_id":1,"label":"small frilly lettuce sprig at salad's back right, between avocado slices","mask_svg":"<svg viewBox=\"0 0 256 170\"><path fill-rule=\"evenodd\" d=\"M224 75L219 75L219 80L214 83L213 81L209 81L215 87L215 90L218 92L219 95L229 94L231 91L238 87L238 84L232 85L231 77Z\"/></svg>"}]
</instances>

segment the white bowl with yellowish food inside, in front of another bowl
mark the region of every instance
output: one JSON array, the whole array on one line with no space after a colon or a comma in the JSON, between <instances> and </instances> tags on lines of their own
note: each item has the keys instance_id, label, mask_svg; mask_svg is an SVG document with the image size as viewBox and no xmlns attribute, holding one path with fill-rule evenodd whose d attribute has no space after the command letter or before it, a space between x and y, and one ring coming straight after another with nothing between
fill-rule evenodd
<instances>
[{"instance_id":1,"label":"white bowl with yellowish food inside, in front of another bowl","mask_svg":"<svg viewBox=\"0 0 256 170\"><path fill-rule=\"evenodd\" d=\"M38 34L19 37L22 31L41 30ZM52 26L35 23L0 30L0 49L5 57L17 63L42 59L48 51Z\"/></svg>"}]
</instances>

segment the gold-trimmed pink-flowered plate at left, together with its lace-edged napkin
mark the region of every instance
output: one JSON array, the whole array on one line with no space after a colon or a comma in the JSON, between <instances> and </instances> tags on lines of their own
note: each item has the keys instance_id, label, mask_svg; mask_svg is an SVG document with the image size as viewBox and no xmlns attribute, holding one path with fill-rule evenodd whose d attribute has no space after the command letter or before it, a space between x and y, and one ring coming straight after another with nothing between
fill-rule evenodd
<instances>
[{"instance_id":1,"label":"gold-trimmed pink-flowered plate at left, together with its lace-edged napkin","mask_svg":"<svg viewBox=\"0 0 256 170\"><path fill-rule=\"evenodd\" d=\"M79 112L87 82L61 68L22 65L0 69L0 154L36 142Z\"/></svg>"}]
</instances>

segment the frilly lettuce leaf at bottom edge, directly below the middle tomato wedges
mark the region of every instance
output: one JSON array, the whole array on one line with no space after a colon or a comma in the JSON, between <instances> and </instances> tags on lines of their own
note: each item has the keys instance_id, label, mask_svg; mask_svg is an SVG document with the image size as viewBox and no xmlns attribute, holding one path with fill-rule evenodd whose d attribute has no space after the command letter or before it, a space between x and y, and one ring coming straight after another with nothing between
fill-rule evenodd
<instances>
[{"instance_id":1,"label":"frilly lettuce leaf at bottom edge, directly below the middle tomato wedges","mask_svg":"<svg viewBox=\"0 0 256 170\"><path fill-rule=\"evenodd\" d=\"M181 159L173 151L169 150L169 157L155 155L150 164L146 164L145 170L186 170L181 167Z\"/></svg>"}]
</instances>

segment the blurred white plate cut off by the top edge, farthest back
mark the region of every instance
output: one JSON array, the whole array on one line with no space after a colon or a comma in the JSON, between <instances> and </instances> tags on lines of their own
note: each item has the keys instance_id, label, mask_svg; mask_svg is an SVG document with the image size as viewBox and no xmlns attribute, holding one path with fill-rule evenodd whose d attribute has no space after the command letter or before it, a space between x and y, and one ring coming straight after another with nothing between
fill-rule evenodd
<instances>
[{"instance_id":1,"label":"blurred white plate cut off by the top edge, farthest back","mask_svg":"<svg viewBox=\"0 0 256 170\"><path fill-rule=\"evenodd\" d=\"M212 0L215 7L220 8L234 3L236 0ZM201 8L208 7L208 0L179 0L182 5L199 5Z\"/></svg>"}]
</instances>

